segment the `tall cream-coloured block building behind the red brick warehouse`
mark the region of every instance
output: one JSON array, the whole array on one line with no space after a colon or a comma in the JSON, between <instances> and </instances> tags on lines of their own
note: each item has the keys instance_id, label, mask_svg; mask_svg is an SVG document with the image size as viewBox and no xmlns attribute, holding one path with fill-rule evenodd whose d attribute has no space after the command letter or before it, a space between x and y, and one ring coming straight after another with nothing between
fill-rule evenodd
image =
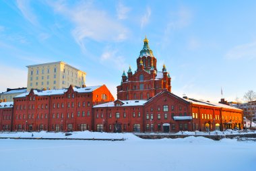
<instances>
[{"instance_id":1,"label":"tall cream-coloured block building behind the red brick warehouse","mask_svg":"<svg viewBox=\"0 0 256 171\"><path fill-rule=\"evenodd\" d=\"M28 92L32 88L38 90L69 88L70 85L82 87L86 81L86 73L62 61L29 65Z\"/></svg>"}]
</instances>

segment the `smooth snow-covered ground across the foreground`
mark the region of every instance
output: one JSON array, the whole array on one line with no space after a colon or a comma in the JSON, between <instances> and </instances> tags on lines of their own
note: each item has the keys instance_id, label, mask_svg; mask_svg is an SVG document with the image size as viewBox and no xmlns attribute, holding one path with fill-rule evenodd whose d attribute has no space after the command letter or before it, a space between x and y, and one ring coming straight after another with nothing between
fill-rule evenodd
<instances>
[{"instance_id":1,"label":"smooth snow-covered ground across the foreground","mask_svg":"<svg viewBox=\"0 0 256 171\"><path fill-rule=\"evenodd\" d=\"M46 137L51 134L44 132ZM54 137L57 135L64 136L58 133ZM204 137L152 140L131 133L88 131L84 135L127 140L0 139L1 170L256 170L255 141ZM73 136L81 137L81 133Z\"/></svg>"}]
</instances>

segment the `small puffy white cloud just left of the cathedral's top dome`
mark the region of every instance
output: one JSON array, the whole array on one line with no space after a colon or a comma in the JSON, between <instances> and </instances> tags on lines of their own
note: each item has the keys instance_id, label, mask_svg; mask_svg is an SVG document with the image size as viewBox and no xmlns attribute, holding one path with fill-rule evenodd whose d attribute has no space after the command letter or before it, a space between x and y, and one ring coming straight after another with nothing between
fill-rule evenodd
<instances>
[{"instance_id":1,"label":"small puffy white cloud just left of the cathedral's top dome","mask_svg":"<svg viewBox=\"0 0 256 171\"><path fill-rule=\"evenodd\" d=\"M100 63L108 67L115 67L119 71L127 69L129 66L127 63L125 63L125 57L119 55L119 51L117 49L110 48L109 46L104 49L102 55L100 56Z\"/></svg>"}]
</instances>

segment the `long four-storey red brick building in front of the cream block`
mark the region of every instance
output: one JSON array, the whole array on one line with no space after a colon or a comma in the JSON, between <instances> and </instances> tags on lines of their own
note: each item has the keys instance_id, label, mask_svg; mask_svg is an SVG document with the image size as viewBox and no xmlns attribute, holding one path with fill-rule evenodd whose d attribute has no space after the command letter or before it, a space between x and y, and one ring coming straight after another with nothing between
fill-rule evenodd
<instances>
[{"instance_id":1,"label":"long four-storey red brick building in front of the cream block","mask_svg":"<svg viewBox=\"0 0 256 171\"><path fill-rule=\"evenodd\" d=\"M92 130L92 106L113 100L105 85L31 90L14 98L13 131Z\"/></svg>"}]
</instances>

